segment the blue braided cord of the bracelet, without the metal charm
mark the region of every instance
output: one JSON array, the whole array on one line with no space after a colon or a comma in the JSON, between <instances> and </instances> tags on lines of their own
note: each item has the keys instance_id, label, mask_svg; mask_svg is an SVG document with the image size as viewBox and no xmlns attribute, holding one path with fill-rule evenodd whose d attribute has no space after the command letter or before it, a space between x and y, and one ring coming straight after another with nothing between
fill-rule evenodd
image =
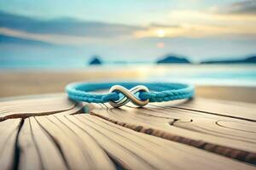
<instances>
[{"instance_id":1,"label":"blue braided cord of the bracelet, without the metal charm","mask_svg":"<svg viewBox=\"0 0 256 170\"><path fill-rule=\"evenodd\" d=\"M66 91L69 99L88 103L107 103L119 99L119 93L99 94L93 91L109 89L113 85L133 88L137 85L146 86L149 92L139 92L138 98L149 99L149 102L162 102L174 99L189 99L195 94L194 86L171 82L77 82L68 84Z\"/></svg>"}]
</instances>

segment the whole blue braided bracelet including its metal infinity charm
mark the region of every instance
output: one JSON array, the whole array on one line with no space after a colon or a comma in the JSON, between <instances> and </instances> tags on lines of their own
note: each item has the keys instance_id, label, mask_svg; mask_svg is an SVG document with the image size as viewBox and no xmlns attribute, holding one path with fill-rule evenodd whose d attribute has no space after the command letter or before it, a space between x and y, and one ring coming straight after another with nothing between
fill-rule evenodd
<instances>
[{"instance_id":1,"label":"whole blue braided bracelet including its metal infinity charm","mask_svg":"<svg viewBox=\"0 0 256 170\"><path fill-rule=\"evenodd\" d=\"M91 92L109 88L108 94ZM127 88L131 88L130 91ZM170 82L76 82L68 84L66 91L69 99L89 103L110 102L114 107L125 105L130 100L143 106L148 102L189 99L195 94L194 86Z\"/></svg>"}]
</instances>

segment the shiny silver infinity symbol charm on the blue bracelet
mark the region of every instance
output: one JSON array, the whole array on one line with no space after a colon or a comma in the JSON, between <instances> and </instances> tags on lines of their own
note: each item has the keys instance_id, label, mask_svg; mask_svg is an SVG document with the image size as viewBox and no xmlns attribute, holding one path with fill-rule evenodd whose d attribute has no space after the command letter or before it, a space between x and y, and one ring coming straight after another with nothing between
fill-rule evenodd
<instances>
[{"instance_id":1,"label":"shiny silver infinity symbol charm on the blue bracelet","mask_svg":"<svg viewBox=\"0 0 256 170\"><path fill-rule=\"evenodd\" d=\"M137 92L148 92L148 88L142 85L131 88L130 90L119 85L114 85L112 88L109 89L109 93L112 93L113 91L124 94L124 97L119 100L109 101L109 104L113 107L120 107L122 105L126 105L129 101L131 101L134 105L142 107L144 105L147 105L149 102L149 99L141 100L135 96Z\"/></svg>"}]
</instances>

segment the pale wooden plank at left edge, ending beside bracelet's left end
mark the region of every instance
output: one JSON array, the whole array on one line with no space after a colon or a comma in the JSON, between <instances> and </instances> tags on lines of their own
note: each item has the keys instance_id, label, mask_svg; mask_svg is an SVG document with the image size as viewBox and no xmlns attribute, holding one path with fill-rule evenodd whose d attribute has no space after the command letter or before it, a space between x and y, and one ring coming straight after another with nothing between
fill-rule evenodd
<instances>
[{"instance_id":1,"label":"pale wooden plank at left edge, ending beside bracelet's left end","mask_svg":"<svg viewBox=\"0 0 256 170\"><path fill-rule=\"evenodd\" d=\"M8 100L0 102L0 121L9 118L26 118L56 113L74 114L83 111L83 108L84 104L75 103L67 99L66 95Z\"/></svg>"}]
</instances>

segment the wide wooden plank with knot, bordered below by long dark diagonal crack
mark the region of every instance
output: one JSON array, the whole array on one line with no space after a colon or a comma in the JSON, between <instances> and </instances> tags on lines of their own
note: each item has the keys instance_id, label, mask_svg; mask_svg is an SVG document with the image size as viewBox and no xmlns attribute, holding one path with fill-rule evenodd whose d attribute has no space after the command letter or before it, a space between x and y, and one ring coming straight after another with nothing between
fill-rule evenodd
<instances>
[{"instance_id":1,"label":"wide wooden plank with knot, bordered below by long dark diagonal crack","mask_svg":"<svg viewBox=\"0 0 256 170\"><path fill-rule=\"evenodd\" d=\"M183 112L186 112L183 114ZM165 139L174 140L183 144L189 144L197 148L212 151L223 156L235 158L239 161L256 163L256 144L255 133L253 137L247 137L248 133L239 131L234 135L234 130L226 129L212 125L212 123L203 123L202 127L207 130L200 131L195 128L179 127L176 122L192 122L199 120L201 112L188 113L189 111L173 110L172 108L131 108L122 107L121 109L102 108L91 111L92 115L102 117L110 122L129 127L135 131L149 133ZM208 122L229 120L230 122L241 122L240 119L234 119L226 116L215 116L204 114ZM204 117L204 116L202 116ZM249 122L249 121L247 121ZM212 129L212 126L214 129ZM214 132L215 130L215 132ZM207 131L207 133L206 133ZM213 131L213 132L212 132ZM224 133L224 134L223 134ZM251 134L251 133L250 133ZM245 138L244 138L245 137Z\"/></svg>"}]
</instances>

